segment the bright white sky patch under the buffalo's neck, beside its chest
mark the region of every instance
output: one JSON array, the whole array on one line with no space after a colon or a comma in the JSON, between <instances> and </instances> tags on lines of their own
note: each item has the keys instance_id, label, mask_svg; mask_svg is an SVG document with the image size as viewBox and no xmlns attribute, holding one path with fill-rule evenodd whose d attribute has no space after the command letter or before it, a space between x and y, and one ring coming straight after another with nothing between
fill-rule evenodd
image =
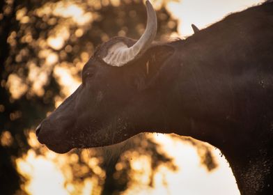
<instances>
[{"instance_id":1,"label":"bright white sky patch under the buffalo's neck, beside its chest","mask_svg":"<svg viewBox=\"0 0 273 195\"><path fill-rule=\"evenodd\" d=\"M201 165L196 148L187 141L164 134L154 134L154 139L167 154L174 157L176 165L179 166L176 173L164 167L158 171L165 177L171 194L180 194L181 189L183 194L240 194L231 168L224 156L219 155L218 149L202 142L211 148L218 163L216 170L208 172ZM179 148L179 150L173 150L173 148Z\"/></svg>"}]
</instances>

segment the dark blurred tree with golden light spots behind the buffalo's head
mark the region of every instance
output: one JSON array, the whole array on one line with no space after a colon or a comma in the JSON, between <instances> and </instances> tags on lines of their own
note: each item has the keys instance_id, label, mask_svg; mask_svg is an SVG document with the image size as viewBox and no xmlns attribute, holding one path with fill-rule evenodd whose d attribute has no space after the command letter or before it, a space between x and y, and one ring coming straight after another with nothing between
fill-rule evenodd
<instances>
[{"instance_id":1,"label":"dark blurred tree with golden light spots behind the buffalo's head","mask_svg":"<svg viewBox=\"0 0 273 195\"><path fill-rule=\"evenodd\" d=\"M113 36L141 36L146 9L141 0L6 0L0 2L0 9L0 189L1 194L15 194L24 178L18 175L14 159L29 149L29 130L71 93L63 89L64 73L59 70L68 70L79 81L81 68L100 43ZM162 40L176 31L177 22L164 6L157 16L157 40ZM176 169L153 141L147 139L144 145L134 143L127 150L150 155L153 170L159 164ZM79 155L80 166L86 166L79 150L72 153ZM105 151L97 155L105 157ZM102 164L106 170L103 194L122 192L130 180L129 161L116 173L119 155ZM211 156L210 152L205 156ZM204 160L207 162L213 164L213 160ZM78 175L75 171L75 180L91 174L95 174L91 169Z\"/></svg>"}]
</instances>

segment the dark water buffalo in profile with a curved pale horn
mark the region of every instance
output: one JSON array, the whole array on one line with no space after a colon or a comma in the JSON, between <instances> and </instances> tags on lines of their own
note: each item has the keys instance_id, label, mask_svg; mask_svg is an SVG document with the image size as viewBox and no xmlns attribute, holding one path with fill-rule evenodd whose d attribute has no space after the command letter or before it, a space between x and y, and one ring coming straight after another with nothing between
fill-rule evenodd
<instances>
[{"instance_id":1,"label":"dark water buffalo in profile with a curved pale horn","mask_svg":"<svg viewBox=\"0 0 273 195\"><path fill-rule=\"evenodd\" d=\"M66 153L174 132L217 146L242 194L273 192L273 3L167 43L153 42L146 7L143 36L95 50L79 88L37 127L40 143Z\"/></svg>"}]
</instances>

